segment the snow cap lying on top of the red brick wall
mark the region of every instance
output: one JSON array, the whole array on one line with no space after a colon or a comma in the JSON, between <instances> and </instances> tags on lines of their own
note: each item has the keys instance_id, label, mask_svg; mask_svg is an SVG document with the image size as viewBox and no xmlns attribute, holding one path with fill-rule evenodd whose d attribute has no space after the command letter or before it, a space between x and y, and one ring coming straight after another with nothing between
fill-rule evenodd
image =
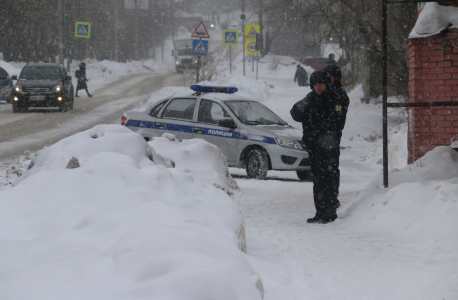
<instances>
[{"instance_id":1,"label":"snow cap lying on top of the red brick wall","mask_svg":"<svg viewBox=\"0 0 458 300\"><path fill-rule=\"evenodd\" d=\"M447 28L449 24L452 24L451 28L458 28L458 7L428 2L409 34L409 39L436 35Z\"/></svg>"}]
</instances>

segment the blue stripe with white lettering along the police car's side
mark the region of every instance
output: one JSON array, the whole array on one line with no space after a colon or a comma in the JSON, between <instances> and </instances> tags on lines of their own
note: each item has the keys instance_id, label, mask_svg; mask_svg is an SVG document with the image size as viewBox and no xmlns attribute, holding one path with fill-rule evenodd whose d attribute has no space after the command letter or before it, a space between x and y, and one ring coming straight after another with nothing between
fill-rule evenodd
<instances>
[{"instance_id":1,"label":"blue stripe with white lettering along the police car's side","mask_svg":"<svg viewBox=\"0 0 458 300\"><path fill-rule=\"evenodd\" d=\"M163 125L164 127L158 127L157 125ZM170 124L164 122L148 122L148 121L140 121L140 120L132 120L129 119L125 126L128 127L139 127L139 128L156 128L159 130L168 130L168 131L178 131L178 132L188 132L193 133L194 129L201 129L203 130L202 133L196 133L201 135L211 135L211 136L220 136L225 138L231 139L241 139L247 141L257 141L266 144L277 144L274 138L257 135L257 134L249 134L249 133L240 133L237 131L228 131L228 130L220 130L220 129L212 129L206 128L201 126L188 126L188 125L178 125L178 124Z\"/></svg>"}]
</instances>

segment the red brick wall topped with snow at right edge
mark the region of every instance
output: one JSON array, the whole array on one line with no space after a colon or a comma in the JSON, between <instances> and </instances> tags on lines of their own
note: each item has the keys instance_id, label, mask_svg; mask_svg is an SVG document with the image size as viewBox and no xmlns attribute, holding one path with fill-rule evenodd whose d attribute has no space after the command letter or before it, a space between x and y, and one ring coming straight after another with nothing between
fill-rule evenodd
<instances>
[{"instance_id":1,"label":"red brick wall topped with snow at right edge","mask_svg":"<svg viewBox=\"0 0 458 300\"><path fill-rule=\"evenodd\" d=\"M445 36L412 39L409 102L458 101L458 29ZM458 106L409 109L408 163L458 140Z\"/></svg>"}]
</instances>

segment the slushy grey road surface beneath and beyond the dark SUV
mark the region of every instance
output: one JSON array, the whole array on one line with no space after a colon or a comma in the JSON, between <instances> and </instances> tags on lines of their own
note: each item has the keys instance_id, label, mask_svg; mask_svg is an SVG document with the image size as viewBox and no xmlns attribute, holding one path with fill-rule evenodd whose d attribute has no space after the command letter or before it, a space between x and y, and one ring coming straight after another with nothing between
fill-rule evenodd
<instances>
[{"instance_id":1,"label":"slushy grey road surface beneath and beyond the dark SUV","mask_svg":"<svg viewBox=\"0 0 458 300\"><path fill-rule=\"evenodd\" d=\"M87 98L80 91L74 109L59 113L57 108L31 108L13 114L10 104L0 109L0 159L36 151L60 139L97 124L114 123L124 111L164 86L180 85L182 78L173 74L129 75L95 90Z\"/></svg>"}]
</instances>

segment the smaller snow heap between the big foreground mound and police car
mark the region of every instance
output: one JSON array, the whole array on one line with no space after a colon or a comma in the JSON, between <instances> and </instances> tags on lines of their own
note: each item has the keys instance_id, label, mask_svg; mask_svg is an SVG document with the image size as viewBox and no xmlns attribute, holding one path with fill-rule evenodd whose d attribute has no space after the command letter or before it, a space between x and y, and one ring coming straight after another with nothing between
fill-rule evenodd
<instances>
[{"instance_id":1,"label":"smaller snow heap between the big foreground mound and police car","mask_svg":"<svg viewBox=\"0 0 458 300\"><path fill-rule=\"evenodd\" d=\"M229 194L232 194L231 189L238 189L229 173L226 158L217 146L203 139L180 141L170 133L153 137L148 144L159 154L173 159L177 169L191 173Z\"/></svg>"}]
</instances>

